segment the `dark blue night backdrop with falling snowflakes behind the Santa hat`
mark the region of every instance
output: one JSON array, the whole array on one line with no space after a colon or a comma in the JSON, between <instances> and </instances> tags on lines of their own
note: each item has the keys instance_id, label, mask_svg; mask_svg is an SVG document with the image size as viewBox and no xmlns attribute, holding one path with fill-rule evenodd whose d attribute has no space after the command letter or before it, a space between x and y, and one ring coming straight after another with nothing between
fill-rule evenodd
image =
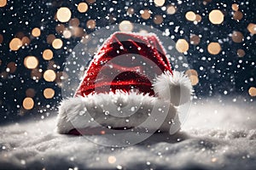
<instances>
[{"instance_id":1,"label":"dark blue night backdrop with falling snowflakes behind the Santa hat","mask_svg":"<svg viewBox=\"0 0 256 170\"><path fill-rule=\"evenodd\" d=\"M78 4L85 2L88 10L80 13ZM241 20L234 19L232 4L239 5ZM175 14L167 14L169 5L176 6ZM55 14L58 8L67 7L72 12L72 19L79 19L82 28L81 35L65 38L60 31L61 26L66 28L73 26L71 22L61 23L56 20ZM133 8L133 10L131 10ZM149 9L152 14L148 20L143 19L141 10ZM212 9L220 9L224 14L222 24L214 25L208 19ZM186 20L185 14L193 11L201 15L198 23ZM133 13L133 14L132 14ZM163 21L154 22L154 16L163 16ZM78 42L86 34L90 34L105 26L119 24L123 20L131 23L154 26L160 31L169 29L170 37L177 42L183 38L189 42L190 36L201 35L198 44L189 42L189 50L186 54L189 67L198 73L199 82L194 86L195 100L218 97L237 99L252 102L255 97L248 93L248 89L256 87L256 37L247 26L256 24L256 2L247 1L167 1L158 7L154 1L8 1L0 7L0 123L16 122L26 117L40 117L56 115L57 107L61 101L61 75L65 66L65 59L72 52ZM95 20L96 27L88 26L88 20ZM170 25L170 22L172 24ZM58 26L59 25L59 26ZM61 26L60 26L61 25ZM177 28L177 26L179 26ZM41 30L39 37L32 36L32 29L38 27ZM59 29L58 29L59 28ZM255 29L255 28L254 28ZM81 30L81 29L80 29ZM175 31L178 30L178 31ZM232 40L233 31L240 31L243 41ZM49 41L49 35L61 38L63 46L60 49L53 48ZM10 50L9 42L15 37L22 39L28 37L29 44L25 44L19 50ZM209 42L219 42L222 50L219 54L209 54L207 45ZM44 49L51 49L53 59L43 58ZM237 50L244 50L244 56L238 56ZM28 69L24 65L26 56L37 57L39 64L35 69ZM57 77L54 82L44 80L44 71L54 70ZM40 72L41 71L41 72ZM36 75L36 78L32 78ZM45 99L44 89L52 88L54 97ZM26 97L34 101L32 110L23 108L22 102Z\"/></svg>"}]
</instances>

